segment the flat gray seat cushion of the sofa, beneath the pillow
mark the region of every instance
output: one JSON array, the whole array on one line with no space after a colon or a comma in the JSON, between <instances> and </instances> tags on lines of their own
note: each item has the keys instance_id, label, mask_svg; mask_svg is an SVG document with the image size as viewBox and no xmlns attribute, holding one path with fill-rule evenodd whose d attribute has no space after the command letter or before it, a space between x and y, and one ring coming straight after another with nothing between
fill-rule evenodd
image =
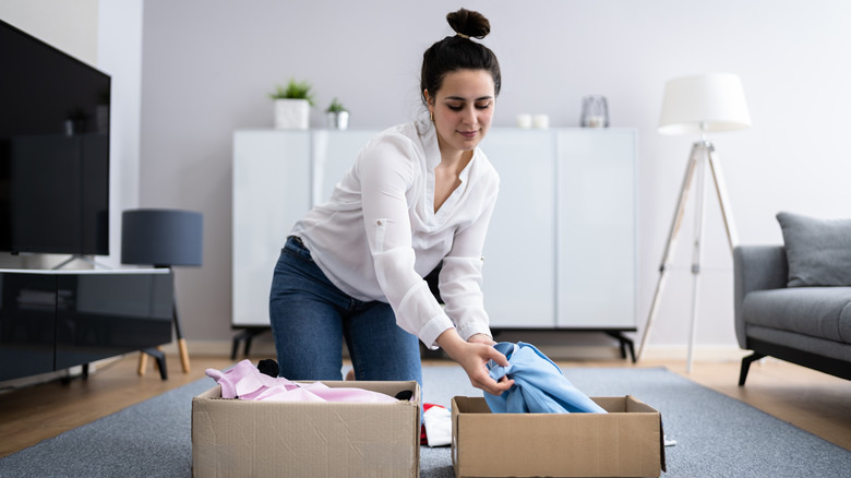
<instances>
[{"instance_id":1,"label":"flat gray seat cushion of the sofa, beneath the pillow","mask_svg":"<svg viewBox=\"0 0 851 478\"><path fill-rule=\"evenodd\" d=\"M851 344L851 287L755 290L742 302L746 324Z\"/></svg>"}]
</instances>

